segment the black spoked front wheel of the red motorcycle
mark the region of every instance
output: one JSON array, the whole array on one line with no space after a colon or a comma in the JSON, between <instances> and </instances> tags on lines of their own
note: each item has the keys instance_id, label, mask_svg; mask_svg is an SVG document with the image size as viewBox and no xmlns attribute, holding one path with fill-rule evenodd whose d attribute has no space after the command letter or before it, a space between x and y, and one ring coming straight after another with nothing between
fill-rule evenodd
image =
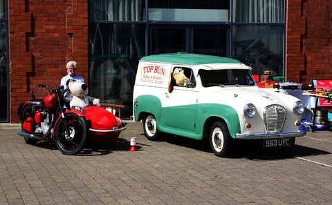
<instances>
[{"instance_id":1,"label":"black spoked front wheel of the red motorcycle","mask_svg":"<svg viewBox=\"0 0 332 205\"><path fill-rule=\"evenodd\" d=\"M59 119L55 126L55 144L64 155L76 155L84 148L88 139L86 119L74 113L65 117L68 134L65 133L64 119Z\"/></svg>"}]
</instances>

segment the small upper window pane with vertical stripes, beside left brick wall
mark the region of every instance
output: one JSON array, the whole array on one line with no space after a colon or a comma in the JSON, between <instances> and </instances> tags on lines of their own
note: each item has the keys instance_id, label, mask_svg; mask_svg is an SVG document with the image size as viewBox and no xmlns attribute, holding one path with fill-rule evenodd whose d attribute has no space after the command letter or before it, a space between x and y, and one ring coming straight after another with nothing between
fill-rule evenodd
<instances>
[{"instance_id":1,"label":"small upper window pane with vertical stripes, beside left brick wall","mask_svg":"<svg viewBox=\"0 0 332 205\"><path fill-rule=\"evenodd\" d=\"M144 11L145 0L89 0L92 20L142 21Z\"/></svg>"}]
</instances>

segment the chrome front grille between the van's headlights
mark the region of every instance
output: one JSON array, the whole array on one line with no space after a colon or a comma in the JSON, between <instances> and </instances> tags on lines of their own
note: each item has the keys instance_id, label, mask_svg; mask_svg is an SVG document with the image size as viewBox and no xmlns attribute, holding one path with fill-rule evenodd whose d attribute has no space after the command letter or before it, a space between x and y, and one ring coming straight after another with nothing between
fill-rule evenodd
<instances>
[{"instance_id":1,"label":"chrome front grille between the van's headlights","mask_svg":"<svg viewBox=\"0 0 332 205\"><path fill-rule=\"evenodd\" d=\"M264 110L264 124L268 133L279 133L284 127L286 109L279 105L271 105Z\"/></svg>"}]
</instances>

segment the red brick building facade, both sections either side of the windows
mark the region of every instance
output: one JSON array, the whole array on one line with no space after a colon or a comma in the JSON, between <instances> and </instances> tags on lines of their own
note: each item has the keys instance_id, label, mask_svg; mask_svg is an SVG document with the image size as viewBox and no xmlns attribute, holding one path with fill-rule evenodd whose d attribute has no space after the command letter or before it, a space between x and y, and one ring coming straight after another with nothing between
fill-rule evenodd
<instances>
[{"instance_id":1,"label":"red brick building facade, both sections either side of the windows","mask_svg":"<svg viewBox=\"0 0 332 205\"><path fill-rule=\"evenodd\" d=\"M89 83L87 0L8 1L10 123L19 123L17 108L56 87L75 60L77 74ZM286 3L286 79L308 83L332 78L332 2L292 0Z\"/></svg>"}]
</instances>

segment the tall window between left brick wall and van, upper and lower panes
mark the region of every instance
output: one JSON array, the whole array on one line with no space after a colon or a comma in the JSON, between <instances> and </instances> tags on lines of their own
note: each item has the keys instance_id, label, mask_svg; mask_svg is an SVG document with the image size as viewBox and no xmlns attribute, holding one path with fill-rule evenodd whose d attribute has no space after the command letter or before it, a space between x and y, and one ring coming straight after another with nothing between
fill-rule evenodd
<instances>
[{"instance_id":1,"label":"tall window between left brick wall and van, upper and lower panes","mask_svg":"<svg viewBox=\"0 0 332 205\"><path fill-rule=\"evenodd\" d=\"M145 0L89 0L90 95L125 105L126 119L138 60L145 55L145 11Z\"/></svg>"}]
</instances>

